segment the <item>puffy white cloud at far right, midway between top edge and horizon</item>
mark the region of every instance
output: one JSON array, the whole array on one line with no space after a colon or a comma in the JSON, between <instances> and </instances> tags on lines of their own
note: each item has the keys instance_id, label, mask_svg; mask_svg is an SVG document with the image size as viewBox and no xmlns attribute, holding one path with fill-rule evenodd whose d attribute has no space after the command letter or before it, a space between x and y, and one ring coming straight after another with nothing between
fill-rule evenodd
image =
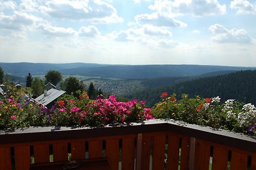
<instances>
[{"instance_id":1,"label":"puffy white cloud at far right, midway between top edge and horizon","mask_svg":"<svg viewBox=\"0 0 256 170\"><path fill-rule=\"evenodd\" d=\"M252 38L248 36L245 29L226 29L220 24L211 25L210 31L215 35L212 41L216 43L251 43Z\"/></svg>"}]
</instances>

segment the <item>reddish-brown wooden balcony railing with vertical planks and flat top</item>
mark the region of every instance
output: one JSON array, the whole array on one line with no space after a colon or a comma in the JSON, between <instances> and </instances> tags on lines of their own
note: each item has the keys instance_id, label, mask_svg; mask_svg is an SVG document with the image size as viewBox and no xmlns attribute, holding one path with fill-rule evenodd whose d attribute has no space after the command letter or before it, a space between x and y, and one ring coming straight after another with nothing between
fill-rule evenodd
<instances>
[{"instance_id":1,"label":"reddish-brown wooden balcony railing with vertical planks and flat top","mask_svg":"<svg viewBox=\"0 0 256 170\"><path fill-rule=\"evenodd\" d=\"M111 169L256 169L256 139L164 120L102 128L30 127L0 134L0 170L106 157Z\"/></svg>"}]
</instances>

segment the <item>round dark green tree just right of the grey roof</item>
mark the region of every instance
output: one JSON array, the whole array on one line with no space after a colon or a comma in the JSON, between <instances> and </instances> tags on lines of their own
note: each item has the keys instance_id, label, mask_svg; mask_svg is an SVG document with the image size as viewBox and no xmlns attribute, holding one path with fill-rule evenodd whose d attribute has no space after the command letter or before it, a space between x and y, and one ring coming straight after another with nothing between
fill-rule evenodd
<instances>
[{"instance_id":1,"label":"round dark green tree just right of the grey roof","mask_svg":"<svg viewBox=\"0 0 256 170\"><path fill-rule=\"evenodd\" d=\"M65 91L67 94L74 94L74 96L79 97L79 93L77 90L84 90L84 83L82 81L77 80L76 77L70 76L66 78L65 82Z\"/></svg>"}]
</instances>

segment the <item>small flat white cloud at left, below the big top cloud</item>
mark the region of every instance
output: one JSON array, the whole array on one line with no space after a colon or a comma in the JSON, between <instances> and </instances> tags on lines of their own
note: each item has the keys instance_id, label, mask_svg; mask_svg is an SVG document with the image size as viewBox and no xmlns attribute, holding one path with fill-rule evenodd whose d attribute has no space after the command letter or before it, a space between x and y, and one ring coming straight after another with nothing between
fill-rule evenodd
<instances>
[{"instance_id":1,"label":"small flat white cloud at left, below the big top cloud","mask_svg":"<svg viewBox=\"0 0 256 170\"><path fill-rule=\"evenodd\" d=\"M68 28L63 28L63 27L53 27L50 24L39 24L36 26L36 29L39 31L44 32L47 36L73 36L76 31L74 29L68 27Z\"/></svg>"}]
</instances>

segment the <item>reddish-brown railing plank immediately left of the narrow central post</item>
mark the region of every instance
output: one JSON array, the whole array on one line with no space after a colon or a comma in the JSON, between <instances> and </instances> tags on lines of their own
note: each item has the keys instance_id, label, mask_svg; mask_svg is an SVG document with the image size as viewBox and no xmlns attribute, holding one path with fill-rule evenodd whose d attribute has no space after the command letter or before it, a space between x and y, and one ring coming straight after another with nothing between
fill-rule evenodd
<instances>
[{"instance_id":1,"label":"reddish-brown railing plank immediately left of the narrow central post","mask_svg":"<svg viewBox=\"0 0 256 170\"><path fill-rule=\"evenodd\" d=\"M125 138L122 143L122 170L134 170L135 138Z\"/></svg>"}]
</instances>

